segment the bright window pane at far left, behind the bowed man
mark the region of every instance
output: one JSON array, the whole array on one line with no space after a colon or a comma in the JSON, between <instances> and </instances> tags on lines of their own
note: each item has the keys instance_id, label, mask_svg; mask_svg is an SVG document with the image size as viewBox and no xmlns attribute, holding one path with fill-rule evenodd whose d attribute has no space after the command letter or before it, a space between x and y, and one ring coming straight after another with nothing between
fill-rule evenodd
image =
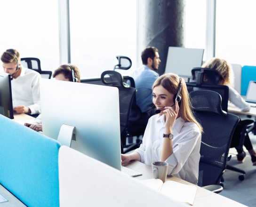
<instances>
[{"instance_id":1,"label":"bright window pane at far left, behind the bowed man","mask_svg":"<svg viewBox=\"0 0 256 207\"><path fill-rule=\"evenodd\" d=\"M0 53L16 49L21 57L37 57L43 71L59 66L58 1L11 0L0 7Z\"/></svg>"}]
</instances>

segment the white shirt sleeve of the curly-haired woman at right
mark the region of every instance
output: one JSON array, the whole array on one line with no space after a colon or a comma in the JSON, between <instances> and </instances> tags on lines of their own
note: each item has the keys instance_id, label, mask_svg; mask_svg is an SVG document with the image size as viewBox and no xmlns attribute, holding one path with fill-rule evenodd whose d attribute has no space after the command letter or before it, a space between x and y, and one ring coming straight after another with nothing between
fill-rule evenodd
<instances>
[{"instance_id":1,"label":"white shirt sleeve of the curly-haired woman at right","mask_svg":"<svg viewBox=\"0 0 256 207\"><path fill-rule=\"evenodd\" d=\"M229 85L228 88L228 100L231 101L235 106L240 108L240 110L250 111L251 106L249 105L249 103L247 103L234 88Z\"/></svg>"}]
</instances>

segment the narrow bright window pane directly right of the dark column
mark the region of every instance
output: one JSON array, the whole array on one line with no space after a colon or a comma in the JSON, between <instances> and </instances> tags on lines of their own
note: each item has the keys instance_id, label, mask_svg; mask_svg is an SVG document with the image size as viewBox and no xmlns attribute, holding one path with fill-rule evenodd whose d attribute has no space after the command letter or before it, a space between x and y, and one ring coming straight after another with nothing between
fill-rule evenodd
<instances>
[{"instance_id":1,"label":"narrow bright window pane directly right of the dark column","mask_svg":"<svg viewBox=\"0 0 256 207\"><path fill-rule=\"evenodd\" d=\"M186 1L185 48L205 49L206 0Z\"/></svg>"}]
</instances>

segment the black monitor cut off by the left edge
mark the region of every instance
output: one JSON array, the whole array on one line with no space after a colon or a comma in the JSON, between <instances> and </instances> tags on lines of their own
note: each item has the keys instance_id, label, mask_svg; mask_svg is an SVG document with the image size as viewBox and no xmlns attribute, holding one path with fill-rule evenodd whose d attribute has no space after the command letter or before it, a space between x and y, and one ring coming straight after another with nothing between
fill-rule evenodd
<instances>
[{"instance_id":1,"label":"black monitor cut off by the left edge","mask_svg":"<svg viewBox=\"0 0 256 207\"><path fill-rule=\"evenodd\" d=\"M11 75L5 72L0 72L0 114L10 119L14 119Z\"/></svg>"}]
</instances>

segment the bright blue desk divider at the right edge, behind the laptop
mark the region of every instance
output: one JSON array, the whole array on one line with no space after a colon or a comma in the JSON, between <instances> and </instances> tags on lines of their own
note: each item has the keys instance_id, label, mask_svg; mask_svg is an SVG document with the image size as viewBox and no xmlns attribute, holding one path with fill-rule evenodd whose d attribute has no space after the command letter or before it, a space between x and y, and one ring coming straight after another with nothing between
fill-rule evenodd
<instances>
[{"instance_id":1,"label":"bright blue desk divider at the right edge, behind the laptop","mask_svg":"<svg viewBox=\"0 0 256 207\"><path fill-rule=\"evenodd\" d=\"M256 66L245 65L242 68L241 95L246 96L249 82L256 81Z\"/></svg>"}]
</instances>

